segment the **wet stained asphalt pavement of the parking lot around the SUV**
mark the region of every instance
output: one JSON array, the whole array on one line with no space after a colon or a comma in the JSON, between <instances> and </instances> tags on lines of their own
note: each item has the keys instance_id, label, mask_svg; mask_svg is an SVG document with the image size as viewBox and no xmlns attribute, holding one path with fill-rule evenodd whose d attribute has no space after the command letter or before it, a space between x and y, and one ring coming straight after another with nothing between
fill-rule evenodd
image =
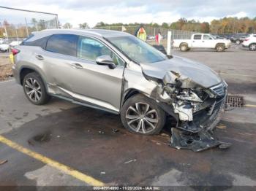
<instances>
[{"instance_id":1,"label":"wet stained asphalt pavement of the parking lot around the SUV","mask_svg":"<svg viewBox=\"0 0 256 191\"><path fill-rule=\"evenodd\" d=\"M251 61L255 58L244 58L244 67L238 67L233 66L238 60L233 52L176 53L187 58L197 55L195 59L212 66L214 62L220 64L219 57L230 55L230 60L222 59L235 70L222 64L222 72L254 75ZM206 186L216 186L211 190L254 190L256 81L248 77L236 83L236 77L227 77L230 89L234 94L252 96L252 106L229 109L217 126L216 136L230 142L229 149L204 152L170 147L170 125L157 136L135 135L123 128L118 115L57 98L44 106L34 106L13 79L0 82L0 186L70 186L72 190L72 186L95 183L172 186L179 190L205 190ZM7 162L1 164L4 160Z\"/></svg>"}]
</instances>

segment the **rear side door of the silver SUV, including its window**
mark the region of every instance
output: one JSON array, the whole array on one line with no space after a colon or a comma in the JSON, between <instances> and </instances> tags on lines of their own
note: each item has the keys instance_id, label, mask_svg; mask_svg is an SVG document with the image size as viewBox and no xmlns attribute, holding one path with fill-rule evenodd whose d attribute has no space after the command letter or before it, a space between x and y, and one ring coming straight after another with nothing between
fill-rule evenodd
<instances>
[{"instance_id":1,"label":"rear side door of the silver SUV, including its window","mask_svg":"<svg viewBox=\"0 0 256 191\"><path fill-rule=\"evenodd\" d=\"M36 55L38 60L44 62L44 71L50 90L53 94L70 96L72 91L70 74L70 61L75 61L78 36L74 34L53 34L48 39L42 55Z\"/></svg>"}]
</instances>

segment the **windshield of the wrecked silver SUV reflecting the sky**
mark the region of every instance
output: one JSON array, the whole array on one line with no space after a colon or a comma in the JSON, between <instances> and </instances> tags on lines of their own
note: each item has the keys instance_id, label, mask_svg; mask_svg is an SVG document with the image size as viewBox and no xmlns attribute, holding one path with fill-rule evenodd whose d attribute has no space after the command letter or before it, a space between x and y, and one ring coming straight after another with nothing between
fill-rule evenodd
<instances>
[{"instance_id":1,"label":"windshield of the wrecked silver SUV reflecting the sky","mask_svg":"<svg viewBox=\"0 0 256 191\"><path fill-rule=\"evenodd\" d=\"M135 36L111 37L108 41L135 63L155 63L167 60L166 55Z\"/></svg>"}]
</instances>

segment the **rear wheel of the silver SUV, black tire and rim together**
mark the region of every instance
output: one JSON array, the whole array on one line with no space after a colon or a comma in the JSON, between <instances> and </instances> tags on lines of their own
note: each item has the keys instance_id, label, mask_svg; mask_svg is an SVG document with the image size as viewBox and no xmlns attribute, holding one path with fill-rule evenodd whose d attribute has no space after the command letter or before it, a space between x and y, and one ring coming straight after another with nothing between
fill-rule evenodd
<instances>
[{"instance_id":1,"label":"rear wheel of the silver SUV, black tire and rim together","mask_svg":"<svg viewBox=\"0 0 256 191\"><path fill-rule=\"evenodd\" d=\"M50 95L46 91L45 84L36 72L26 74L22 84L26 98L32 104L43 105L50 100Z\"/></svg>"}]
</instances>

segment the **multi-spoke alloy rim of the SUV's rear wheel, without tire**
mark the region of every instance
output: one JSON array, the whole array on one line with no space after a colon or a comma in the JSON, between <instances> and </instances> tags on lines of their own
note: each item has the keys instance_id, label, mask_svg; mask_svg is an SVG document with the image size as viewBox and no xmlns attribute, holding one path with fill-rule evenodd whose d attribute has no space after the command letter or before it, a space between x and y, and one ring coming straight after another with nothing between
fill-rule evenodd
<instances>
[{"instance_id":1,"label":"multi-spoke alloy rim of the SUV's rear wheel, without tire","mask_svg":"<svg viewBox=\"0 0 256 191\"><path fill-rule=\"evenodd\" d=\"M36 79L29 78L25 81L25 92L31 101L39 101L42 98L42 90Z\"/></svg>"}]
</instances>

